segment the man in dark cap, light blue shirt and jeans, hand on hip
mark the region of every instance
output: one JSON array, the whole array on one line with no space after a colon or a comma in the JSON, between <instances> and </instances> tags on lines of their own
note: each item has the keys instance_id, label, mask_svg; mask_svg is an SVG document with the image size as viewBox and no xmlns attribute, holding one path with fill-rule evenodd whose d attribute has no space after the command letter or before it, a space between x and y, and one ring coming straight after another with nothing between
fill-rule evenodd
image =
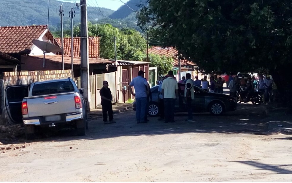
<instances>
[{"instance_id":1,"label":"man in dark cap, light blue shirt and jeans, hand on hip","mask_svg":"<svg viewBox=\"0 0 292 183\"><path fill-rule=\"evenodd\" d=\"M138 76L133 78L131 83L129 84L129 91L136 98L136 120L137 123L147 123L145 121L145 111L147 105L147 96L150 91L149 84L147 80L144 78L144 71L140 70L138 72ZM135 94L133 92L132 86L135 88Z\"/></svg>"}]
</instances>

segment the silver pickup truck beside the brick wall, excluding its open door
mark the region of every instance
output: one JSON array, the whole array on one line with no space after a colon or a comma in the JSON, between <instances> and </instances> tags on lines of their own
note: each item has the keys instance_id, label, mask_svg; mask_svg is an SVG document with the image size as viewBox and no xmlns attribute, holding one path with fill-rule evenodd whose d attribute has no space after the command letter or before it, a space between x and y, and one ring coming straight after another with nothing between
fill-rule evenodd
<instances>
[{"instance_id":1,"label":"silver pickup truck beside the brick wall, excluding its open door","mask_svg":"<svg viewBox=\"0 0 292 183\"><path fill-rule=\"evenodd\" d=\"M26 138L34 138L37 126L64 124L75 127L77 135L85 135L87 115L82 93L70 78L32 83L21 105Z\"/></svg>"}]
</instances>

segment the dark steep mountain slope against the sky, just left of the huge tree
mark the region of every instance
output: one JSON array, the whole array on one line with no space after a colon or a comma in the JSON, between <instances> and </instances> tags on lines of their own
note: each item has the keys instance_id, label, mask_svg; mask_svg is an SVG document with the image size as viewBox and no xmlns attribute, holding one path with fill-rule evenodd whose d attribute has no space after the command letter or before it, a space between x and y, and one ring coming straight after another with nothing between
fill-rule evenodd
<instances>
[{"instance_id":1,"label":"dark steep mountain slope against the sky, just left of the huge tree","mask_svg":"<svg viewBox=\"0 0 292 183\"><path fill-rule=\"evenodd\" d=\"M147 0L130 0L117 11L109 15L111 19L124 19L140 9L139 5L146 5Z\"/></svg>"}]
</instances>

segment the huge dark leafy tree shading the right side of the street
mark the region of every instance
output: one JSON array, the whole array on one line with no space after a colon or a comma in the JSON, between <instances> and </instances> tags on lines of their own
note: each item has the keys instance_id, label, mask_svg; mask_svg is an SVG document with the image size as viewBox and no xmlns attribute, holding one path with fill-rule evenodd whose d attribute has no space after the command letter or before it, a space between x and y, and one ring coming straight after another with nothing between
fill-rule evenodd
<instances>
[{"instance_id":1,"label":"huge dark leafy tree shading the right side of the street","mask_svg":"<svg viewBox=\"0 0 292 183\"><path fill-rule=\"evenodd\" d=\"M138 25L201 72L267 70L291 104L292 2L148 0ZM152 26L149 26L152 24Z\"/></svg>"}]
</instances>

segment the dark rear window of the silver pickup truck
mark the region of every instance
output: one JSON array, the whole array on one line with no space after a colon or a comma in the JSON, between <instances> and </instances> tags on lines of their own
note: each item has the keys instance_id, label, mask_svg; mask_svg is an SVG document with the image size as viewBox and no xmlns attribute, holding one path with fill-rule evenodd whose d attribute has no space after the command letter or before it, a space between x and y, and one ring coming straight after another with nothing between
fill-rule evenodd
<instances>
[{"instance_id":1,"label":"dark rear window of the silver pickup truck","mask_svg":"<svg viewBox=\"0 0 292 183\"><path fill-rule=\"evenodd\" d=\"M56 94L64 92L74 92L74 86L71 81L57 81L50 83L35 84L32 88L32 96Z\"/></svg>"}]
</instances>

